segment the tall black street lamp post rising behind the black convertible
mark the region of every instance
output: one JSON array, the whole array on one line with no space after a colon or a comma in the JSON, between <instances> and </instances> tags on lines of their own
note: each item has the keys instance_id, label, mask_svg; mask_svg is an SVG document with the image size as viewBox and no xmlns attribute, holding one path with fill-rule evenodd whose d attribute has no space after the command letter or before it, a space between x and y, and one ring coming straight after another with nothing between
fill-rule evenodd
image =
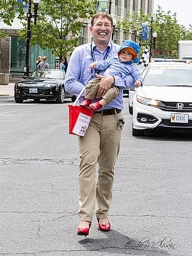
<instances>
[{"instance_id":1,"label":"tall black street lamp post rising behind the black convertible","mask_svg":"<svg viewBox=\"0 0 192 256\"><path fill-rule=\"evenodd\" d=\"M34 0L34 15L31 13L31 0L29 0L28 3L28 33L27 33L27 42L26 42L26 65L24 65L24 78L29 76L29 46L30 46L30 40L32 38L32 31L31 31L31 18L35 17L34 24L36 25L36 18L37 10L38 10L38 4L40 0Z\"/></svg>"}]
</instances>

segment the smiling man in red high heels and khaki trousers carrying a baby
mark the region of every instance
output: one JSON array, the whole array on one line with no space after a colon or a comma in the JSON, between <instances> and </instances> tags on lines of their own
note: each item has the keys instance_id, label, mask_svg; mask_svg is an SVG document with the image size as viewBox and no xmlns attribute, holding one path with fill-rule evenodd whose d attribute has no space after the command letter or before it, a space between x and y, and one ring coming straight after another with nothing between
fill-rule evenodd
<instances>
[{"instance_id":1,"label":"smiling man in red high heels and khaki trousers carrying a baby","mask_svg":"<svg viewBox=\"0 0 192 256\"><path fill-rule=\"evenodd\" d=\"M120 86L120 93L108 105L100 111L95 111L85 136L79 136L79 216L81 222L77 234L87 236L92 223L93 214L99 222L99 229L109 231L111 225L108 220L109 207L111 205L114 167L116 157L120 150L120 138L124 124L123 90L124 86L133 86L131 76L102 77L93 74L89 65L92 62L106 60L115 56L119 45L110 42L113 33L113 19L108 13L96 13L93 15L90 26L93 41L77 47L68 63L65 80L65 90L74 95L79 95L85 84L93 77L99 77L100 88L97 97L100 98L113 85ZM96 72L97 73L97 70ZM95 76L94 76L95 75ZM131 79L130 83L129 79ZM127 81L126 81L127 80ZM82 102L84 97L79 100ZM98 100L98 99L97 99ZM95 184L95 172L99 164L97 184Z\"/></svg>"}]
</instances>

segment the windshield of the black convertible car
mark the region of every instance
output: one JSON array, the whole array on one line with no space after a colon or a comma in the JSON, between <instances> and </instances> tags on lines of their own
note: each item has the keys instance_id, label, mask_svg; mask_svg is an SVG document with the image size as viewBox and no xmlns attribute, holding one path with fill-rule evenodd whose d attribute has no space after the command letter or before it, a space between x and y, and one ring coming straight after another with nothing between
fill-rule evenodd
<instances>
[{"instance_id":1,"label":"windshield of the black convertible car","mask_svg":"<svg viewBox=\"0 0 192 256\"><path fill-rule=\"evenodd\" d=\"M47 78L47 79L64 79L64 72L62 70L34 70L28 78Z\"/></svg>"}]
</instances>

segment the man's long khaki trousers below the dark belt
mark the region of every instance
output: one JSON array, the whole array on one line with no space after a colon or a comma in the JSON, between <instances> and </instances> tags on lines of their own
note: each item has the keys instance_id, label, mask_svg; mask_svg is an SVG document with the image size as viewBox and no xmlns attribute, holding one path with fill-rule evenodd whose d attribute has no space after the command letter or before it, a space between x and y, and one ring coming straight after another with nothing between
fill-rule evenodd
<instances>
[{"instance_id":1,"label":"man's long khaki trousers below the dark belt","mask_svg":"<svg viewBox=\"0 0 192 256\"><path fill-rule=\"evenodd\" d=\"M120 150L122 130L117 115L93 113L84 137L79 136L79 216L81 221L107 218L112 200L116 157ZM99 164L96 175L97 163ZM96 177L97 176L97 177Z\"/></svg>"}]
</instances>

